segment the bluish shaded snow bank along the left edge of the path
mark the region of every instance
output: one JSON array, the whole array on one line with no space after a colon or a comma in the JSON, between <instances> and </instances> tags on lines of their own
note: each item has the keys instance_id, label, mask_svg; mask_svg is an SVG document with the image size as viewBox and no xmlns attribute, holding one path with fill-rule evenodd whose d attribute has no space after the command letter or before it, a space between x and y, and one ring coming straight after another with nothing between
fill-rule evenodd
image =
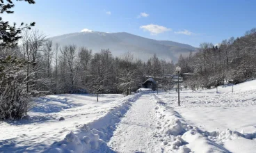
<instances>
[{"instance_id":1,"label":"bluish shaded snow bank along the left edge of the path","mask_svg":"<svg viewBox=\"0 0 256 153\"><path fill-rule=\"evenodd\" d=\"M77 126L76 130L70 131L63 140L53 143L44 152L113 152L105 141L113 136L115 124L120 122L120 118L128 111L132 102L139 97L141 93L123 99L120 106L115 107L102 118Z\"/></svg>"}]
</instances>

